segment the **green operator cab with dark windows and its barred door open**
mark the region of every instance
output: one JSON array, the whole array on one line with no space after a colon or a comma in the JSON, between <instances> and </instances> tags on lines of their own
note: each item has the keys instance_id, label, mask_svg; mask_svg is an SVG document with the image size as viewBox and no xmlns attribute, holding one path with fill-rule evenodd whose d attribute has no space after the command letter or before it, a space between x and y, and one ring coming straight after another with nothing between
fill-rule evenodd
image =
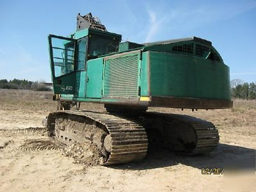
<instances>
[{"instance_id":1,"label":"green operator cab with dark windows and its barred door open","mask_svg":"<svg viewBox=\"0 0 256 192\"><path fill-rule=\"evenodd\" d=\"M76 31L69 37L49 35L52 82L56 82L54 93L74 94L76 73L86 71L88 60L118 51L121 38L91 28ZM67 83L70 86L62 86Z\"/></svg>"}]
</instances>

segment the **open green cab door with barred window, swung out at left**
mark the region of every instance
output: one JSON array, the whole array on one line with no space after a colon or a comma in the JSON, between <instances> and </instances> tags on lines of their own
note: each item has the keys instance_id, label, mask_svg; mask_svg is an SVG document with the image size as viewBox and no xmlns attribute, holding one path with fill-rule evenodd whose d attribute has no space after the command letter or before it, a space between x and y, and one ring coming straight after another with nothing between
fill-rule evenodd
<instances>
[{"instance_id":1,"label":"open green cab door with barred window, swung out at left","mask_svg":"<svg viewBox=\"0 0 256 192\"><path fill-rule=\"evenodd\" d=\"M54 93L74 95L77 42L72 38L56 35L49 35L48 39Z\"/></svg>"}]
</instances>

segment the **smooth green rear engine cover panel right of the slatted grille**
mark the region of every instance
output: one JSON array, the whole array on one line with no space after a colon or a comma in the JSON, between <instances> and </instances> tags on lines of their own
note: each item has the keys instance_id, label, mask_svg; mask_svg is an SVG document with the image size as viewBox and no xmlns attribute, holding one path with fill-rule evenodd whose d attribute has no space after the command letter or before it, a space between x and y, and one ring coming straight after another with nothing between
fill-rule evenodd
<instances>
[{"instance_id":1,"label":"smooth green rear engine cover panel right of the slatted grille","mask_svg":"<svg viewBox=\"0 0 256 192\"><path fill-rule=\"evenodd\" d=\"M231 99L229 68L223 63L148 51L143 52L141 68L143 96Z\"/></svg>"}]
</instances>

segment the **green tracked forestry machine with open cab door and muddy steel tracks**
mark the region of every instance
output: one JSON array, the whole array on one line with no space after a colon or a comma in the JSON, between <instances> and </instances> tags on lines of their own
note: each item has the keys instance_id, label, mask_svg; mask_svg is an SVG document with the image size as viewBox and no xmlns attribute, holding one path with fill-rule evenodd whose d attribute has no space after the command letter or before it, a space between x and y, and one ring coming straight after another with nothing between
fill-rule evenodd
<instances>
[{"instance_id":1,"label":"green tracked forestry machine with open cab door and muddy steel tracks","mask_svg":"<svg viewBox=\"0 0 256 192\"><path fill-rule=\"evenodd\" d=\"M229 68L208 40L121 42L89 13L77 15L72 35L49 35L49 54L58 110L49 114L47 130L62 143L90 141L104 165L143 159L151 140L184 154L218 145L211 122L147 112L232 108ZM70 110L81 102L102 103L106 113Z\"/></svg>"}]
</instances>

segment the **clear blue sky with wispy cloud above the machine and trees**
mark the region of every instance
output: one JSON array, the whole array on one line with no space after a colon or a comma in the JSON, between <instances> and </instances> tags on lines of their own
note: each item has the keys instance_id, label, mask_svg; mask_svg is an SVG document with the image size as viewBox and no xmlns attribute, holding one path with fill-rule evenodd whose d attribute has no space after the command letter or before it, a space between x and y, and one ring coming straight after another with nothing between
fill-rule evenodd
<instances>
[{"instance_id":1,"label":"clear blue sky with wispy cloud above the machine and trees","mask_svg":"<svg viewBox=\"0 0 256 192\"><path fill-rule=\"evenodd\" d=\"M256 82L256 0L0 0L0 79L51 82L47 36L73 33L89 12L124 41L210 40L231 80Z\"/></svg>"}]
</instances>

